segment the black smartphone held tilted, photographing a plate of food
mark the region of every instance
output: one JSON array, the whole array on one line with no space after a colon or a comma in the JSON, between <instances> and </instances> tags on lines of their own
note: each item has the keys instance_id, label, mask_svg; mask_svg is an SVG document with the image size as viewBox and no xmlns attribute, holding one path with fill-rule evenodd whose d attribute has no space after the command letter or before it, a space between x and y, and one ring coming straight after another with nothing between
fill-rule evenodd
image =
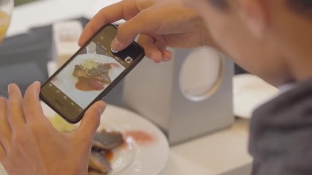
<instances>
[{"instance_id":1,"label":"black smartphone held tilted, photographing a plate of food","mask_svg":"<svg viewBox=\"0 0 312 175\"><path fill-rule=\"evenodd\" d=\"M116 26L102 27L42 85L41 100L67 122L79 122L86 110L145 56L144 49L134 41L113 53L110 45L116 34Z\"/></svg>"}]
</instances>

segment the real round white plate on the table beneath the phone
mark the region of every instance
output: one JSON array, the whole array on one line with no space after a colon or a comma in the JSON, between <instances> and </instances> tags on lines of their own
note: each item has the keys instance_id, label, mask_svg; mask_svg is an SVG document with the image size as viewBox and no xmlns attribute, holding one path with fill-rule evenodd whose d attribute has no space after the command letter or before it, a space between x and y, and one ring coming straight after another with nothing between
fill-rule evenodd
<instances>
[{"instance_id":1,"label":"real round white plate on the table beneath the phone","mask_svg":"<svg viewBox=\"0 0 312 175\"><path fill-rule=\"evenodd\" d=\"M46 104L42 103L46 116L54 116ZM114 150L113 170L109 175L156 175L165 167L169 157L169 144L161 130L143 117L123 108L107 105L99 130L106 128L126 133L140 130L154 138L151 143L141 144L132 137L126 138L127 145ZM0 166L0 174L6 174Z\"/></svg>"}]
</instances>

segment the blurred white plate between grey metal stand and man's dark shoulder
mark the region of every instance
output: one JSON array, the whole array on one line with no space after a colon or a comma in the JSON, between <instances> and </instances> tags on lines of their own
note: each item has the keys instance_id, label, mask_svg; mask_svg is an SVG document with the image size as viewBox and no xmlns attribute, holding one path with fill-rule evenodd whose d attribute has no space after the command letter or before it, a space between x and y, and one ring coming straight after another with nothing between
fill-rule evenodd
<instances>
[{"instance_id":1,"label":"blurred white plate between grey metal stand and man's dark shoulder","mask_svg":"<svg viewBox=\"0 0 312 175\"><path fill-rule=\"evenodd\" d=\"M279 90L261 78L241 74L233 77L234 114L250 119L252 112L279 94Z\"/></svg>"}]
</instances>

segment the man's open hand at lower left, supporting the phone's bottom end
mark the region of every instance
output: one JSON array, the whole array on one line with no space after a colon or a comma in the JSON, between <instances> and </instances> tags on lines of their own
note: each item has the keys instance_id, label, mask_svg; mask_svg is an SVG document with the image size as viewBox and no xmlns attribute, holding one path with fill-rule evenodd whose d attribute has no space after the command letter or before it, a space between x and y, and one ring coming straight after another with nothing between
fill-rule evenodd
<instances>
[{"instance_id":1,"label":"man's open hand at lower left, supporting the phone's bottom end","mask_svg":"<svg viewBox=\"0 0 312 175\"><path fill-rule=\"evenodd\" d=\"M73 133L61 133L44 116L40 83L24 99L17 85L8 87L9 100L0 98L0 162L9 174L87 174L93 135L105 103L86 112Z\"/></svg>"}]
</instances>

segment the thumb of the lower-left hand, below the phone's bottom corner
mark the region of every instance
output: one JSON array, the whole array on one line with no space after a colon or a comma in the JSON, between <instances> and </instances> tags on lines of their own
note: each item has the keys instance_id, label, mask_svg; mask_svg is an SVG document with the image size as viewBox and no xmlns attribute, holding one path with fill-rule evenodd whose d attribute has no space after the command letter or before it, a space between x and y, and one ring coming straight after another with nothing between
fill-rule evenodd
<instances>
[{"instance_id":1,"label":"thumb of the lower-left hand, below the phone's bottom corner","mask_svg":"<svg viewBox=\"0 0 312 175\"><path fill-rule=\"evenodd\" d=\"M106 103L104 101L98 101L86 111L78 130L81 136L84 138L93 138L97 127L100 125L101 115L105 107Z\"/></svg>"}]
</instances>

